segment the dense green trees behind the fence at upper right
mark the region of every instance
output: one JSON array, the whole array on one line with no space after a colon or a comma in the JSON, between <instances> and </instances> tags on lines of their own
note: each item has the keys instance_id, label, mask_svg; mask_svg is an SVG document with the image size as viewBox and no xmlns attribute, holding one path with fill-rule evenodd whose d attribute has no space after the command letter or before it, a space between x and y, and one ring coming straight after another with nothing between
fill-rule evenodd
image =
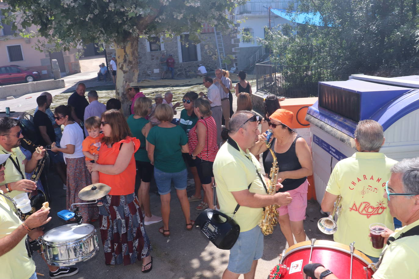
<instances>
[{"instance_id":1,"label":"dense green trees behind the fence at upper right","mask_svg":"<svg viewBox=\"0 0 419 279\"><path fill-rule=\"evenodd\" d=\"M330 67L345 78L354 73L417 68L416 0L301 0L299 11L321 15L323 26L282 25L260 43L282 65ZM282 29L282 30L281 30Z\"/></svg>"}]
</instances>

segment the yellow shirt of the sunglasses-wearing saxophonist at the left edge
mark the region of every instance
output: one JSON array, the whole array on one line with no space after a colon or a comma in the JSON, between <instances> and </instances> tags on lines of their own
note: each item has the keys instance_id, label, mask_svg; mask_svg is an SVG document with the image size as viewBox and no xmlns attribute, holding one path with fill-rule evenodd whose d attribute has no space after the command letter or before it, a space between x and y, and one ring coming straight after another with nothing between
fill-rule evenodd
<instances>
[{"instance_id":1,"label":"yellow shirt of the sunglasses-wearing saxophonist at the left edge","mask_svg":"<svg viewBox=\"0 0 419 279\"><path fill-rule=\"evenodd\" d=\"M15 160L15 162L17 162L17 164L19 164L19 166L21 167L21 172L23 174L23 178L26 179L26 177L25 177L25 165L23 164L23 160L25 160L26 157L23 154L23 152L21 151L21 148L19 148L19 147L12 148L12 152L8 152L3 148L3 146L0 145L0 154L11 154L10 158ZM10 159L6 160L4 173L5 173L4 181L1 182L1 185L4 185L6 183L10 183L10 182L16 182L16 181L19 181L19 180L22 179L21 173L18 171L18 169L16 169L16 166L13 164L12 160L10 160ZM21 193L23 193L23 192L13 190L12 192L8 193L8 196L13 198L13 197L16 197L17 195L19 195Z\"/></svg>"}]
</instances>

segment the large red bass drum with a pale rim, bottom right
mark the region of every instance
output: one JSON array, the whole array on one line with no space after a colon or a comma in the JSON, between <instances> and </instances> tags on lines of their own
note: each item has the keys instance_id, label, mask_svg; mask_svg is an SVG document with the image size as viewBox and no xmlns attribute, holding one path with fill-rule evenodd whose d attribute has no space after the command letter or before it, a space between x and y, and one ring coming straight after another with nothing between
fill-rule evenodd
<instances>
[{"instance_id":1,"label":"large red bass drum with a pale rim, bottom right","mask_svg":"<svg viewBox=\"0 0 419 279\"><path fill-rule=\"evenodd\" d=\"M311 241L297 243L285 251L279 265L275 266L269 278L301 279L303 267L309 263ZM349 279L351 274L351 252L348 245L334 241L317 240L311 252L313 263L323 264L339 279ZM375 272L371 260L358 250L352 258L352 279L371 279ZM276 276L274 276L276 274Z\"/></svg>"}]
</instances>

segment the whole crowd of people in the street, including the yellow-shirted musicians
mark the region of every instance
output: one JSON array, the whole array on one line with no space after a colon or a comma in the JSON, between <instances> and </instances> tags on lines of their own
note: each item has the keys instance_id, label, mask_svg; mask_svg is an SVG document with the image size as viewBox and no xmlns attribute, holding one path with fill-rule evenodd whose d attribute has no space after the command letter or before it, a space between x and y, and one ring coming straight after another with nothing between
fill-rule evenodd
<instances>
[{"instance_id":1,"label":"whole crowd of people in the street, including the yellow-shirted musicians","mask_svg":"<svg viewBox=\"0 0 419 279\"><path fill-rule=\"evenodd\" d=\"M172 92L165 92L164 97L157 93L153 103L140 92L137 83L126 88L127 99L132 102L127 119L116 99L101 104L97 92L91 90L86 100L83 83L77 84L68 105L58 106L54 113L49 109L52 96L42 93L36 99L34 115L36 144L44 146L40 152L31 153L21 147L23 134L18 120L0 118L0 190L15 197L42 189L23 173L34 171L46 152L53 158L66 190L65 208L85 202L78 193L87 185L109 185L110 192L96 204L79 205L83 223L99 220L106 265L141 261L142 272L150 272L152 245L146 226L162 222L158 232L163 237L171 236L173 183L185 230L191 231L194 226L190 203L195 201L199 201L196 210L218 209L233 216L240 226L222 278L237 279L240 274L254 278L264 251L264 236L259 228L264 207L279 206L277 220L289 246L306 240L303 221L313 160L304 138L292 129L294 114L282 109L275 95L266 96L263 115L253 111L251 86L241 71L240 82L235 85L237 111L233 113L229 73L216 69L215 75L203 77L207 92L191 91L183 96L184 108L178 120L173 117L181 103L172 103ZM270 148L276 158L266 146L268 129L272 131ZM357 152L336 164L321 202L323 211L330 212L341 197L342 211L334 240L344 244L356 241L357 249L378 262L375 279L417 278L419 269L414 263L418 259L418 236L403 237L403 233L419 226L419 159L398 163L380 153L385 142L383 128L373 120L360 121L354 136ZM46 150L49 145L50 150ZM275 159L279 172L273 181L270 174ZM195 187L189 197L188 172ZM150 206L153 177L160 195L160 214L154 212L157 215ZM267 184L272 183L277 192L267 195ZM365 194L361 190L366 187L374 190ZM361 207L365 202L373 208ZM49 210L36 211L22 221L1 195L0 205L0 259L7 267L6 278L36 279L25 240L43 234L40 227L51 219ZM392 216L407 225L396 234ZM384 252L372 248L368 225L374 222L386 225L383 237L394 237ZM400 271L399 266L406 269ZM78 272L77 267L49 266L49 270L51 278ZM337 278L321 263L308 264L305 271L313 278Z\"/></svg>"}]
</instances>

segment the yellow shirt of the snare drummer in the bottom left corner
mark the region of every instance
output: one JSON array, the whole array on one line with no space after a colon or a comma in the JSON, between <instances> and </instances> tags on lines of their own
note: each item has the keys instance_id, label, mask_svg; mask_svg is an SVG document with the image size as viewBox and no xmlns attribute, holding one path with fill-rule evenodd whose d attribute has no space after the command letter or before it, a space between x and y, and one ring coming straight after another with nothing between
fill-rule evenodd
<instances>
[{"instance_id":1,"label":"yellow shirt of the snare drummer in the bottom left corner","mask_svg":"<svg viewBox=\"0 0 419 279\"><path fill-rule=\"evenodd\" d=\"M0 238L12 233L21 223L22 221L10 208L6 199L0 196ZM34 274L35 262L28 257L25 241L26 237L23 237L12 250L0 256L1 278L28 279Z\"/></svg>"}]
</instances>

